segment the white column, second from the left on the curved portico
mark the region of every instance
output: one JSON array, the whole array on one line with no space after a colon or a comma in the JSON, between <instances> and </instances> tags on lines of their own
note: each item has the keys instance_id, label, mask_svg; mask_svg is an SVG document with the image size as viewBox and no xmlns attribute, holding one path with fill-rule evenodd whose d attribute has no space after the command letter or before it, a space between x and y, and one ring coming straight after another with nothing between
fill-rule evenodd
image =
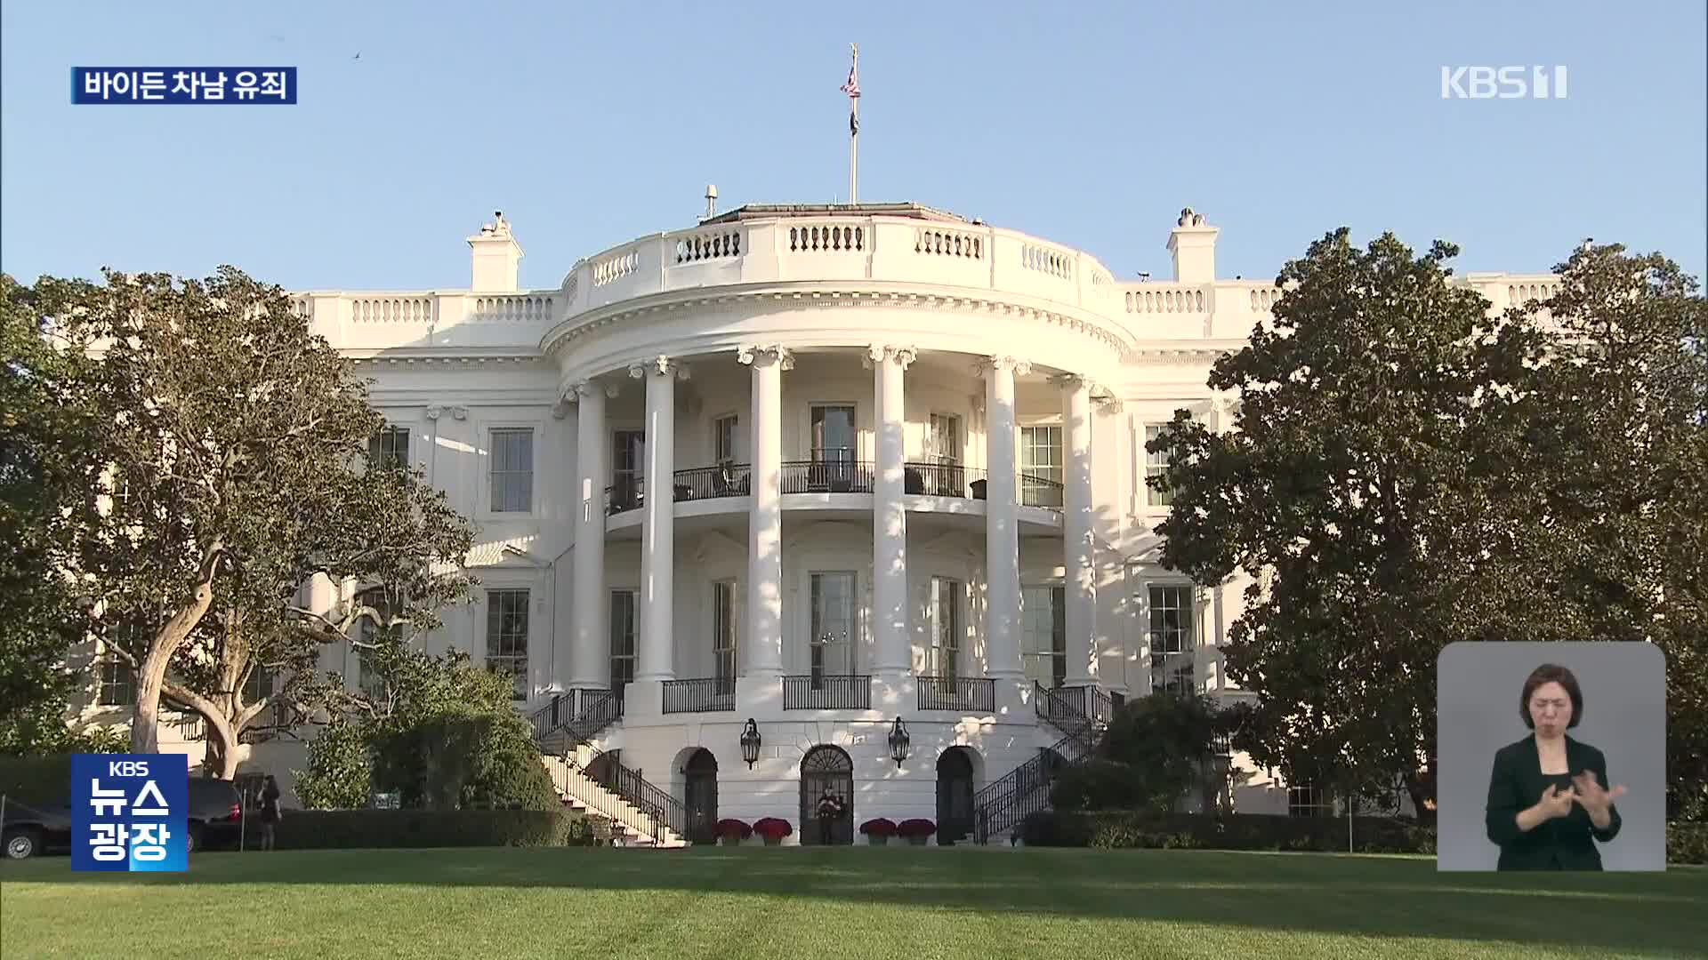
<instances>
[{"instance_id":1,"label":"white column, second from the left on the curved portico","mask_svg":"<svg viewBox=\"0 0 1708 960\"><path fill-rule=\"evenodd\" d=\"M646 381L646 512L640 514L640 637L635 680L675 680L676 601L676 378L687 371L670 357L629 367Z\"/></svg>"}]
</instances>

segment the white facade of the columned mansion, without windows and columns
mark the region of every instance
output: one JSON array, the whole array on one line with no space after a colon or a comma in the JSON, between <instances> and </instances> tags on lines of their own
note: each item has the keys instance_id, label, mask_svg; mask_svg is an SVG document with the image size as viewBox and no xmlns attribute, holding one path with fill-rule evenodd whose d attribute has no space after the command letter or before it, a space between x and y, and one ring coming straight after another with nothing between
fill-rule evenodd
<instances>
[{"instance_id":1,"label":"white facade of the columned mansion, without windows and columns","mask_svg":"<svg viewBox=\"0 0 1708 960\"><path fill-rule=\"evenodd\" d=\"M926 460L933 417L950 415L958 422L960 442L948 453L970 471L968 478L986 477L991 465L987 374L980 364L1016 364L1016 442L1027 427L1066 434L1062 378L1090 381L1090 670L1103 690L1143 695L1151 687L1149 588L1185 586L1182 576L1160 564L1155 526L1167 507L1144 487L1146 427L1167 424L1177 408L1187 408L1213 429L1230 429L1230 398L1213 396L1204 386L1209 366L1220 354L1240 348L1281 296L1266 280L1216 280L1216 229L1190 212L1167 239L1175 256L1172 282L1117 282L1085 253L921 207L745 208L721 222L586 258L555 290L516 290L521 248L509 224L500 222L470 237L478 292L306 292L295 301L316 331L360 362L372 378L377 408L389 424L410 430L412 463L480 530L466 560L482 581L477 600L449 612L444 627L424 637L425 649L461 649L483 661L487 591L528 589L526 697L518 705L536 709L570 688L577 623L594 639L608 637L610 593L642 591L646 552L654 550L654 560L664 564L668 550L668 567L658 567L673 574L666 673L705 678L716 671L712 584L731 581L743 673L736 709L663 714L659 685L637 683L629 692L625 721L598 745L620 748L625 764L678 796L687 755L705 746L717 758L719 815L784 817L798 839L798 767L813 745L835 743L852 757L859 823L880 815L934 818L934 764L946 746L977 753L975 786L984 786L1059 740L1059 731L1033 714L1030 683L999 683L996 709L979 716L921 712L915 705L914 676L927 670L933 646L933 576L951 577L965 589L958 673L980 678L992 666L986 647L992 613L986 584L991 502L904 495L910 671L874 682L873 711L784 711L774 678L745 676L753 644L745 635L753 509L745 489L675 502L668 543L649 535L644 509L606 516L601 605L574 608L577 518L605 511L613 434L646 427L647 384L661 379L632 376L630 367L656 366L663 357L680 369L670 444L676 471L716 465L714 424L729 415L738 419L731 461L753 461L757 367L746 364L743 350L774 348L787 357L779 436L772 441L781 444L784 465L811 458L815 405L852 407L852 456L859 465L874 465L881 424L873 350L907 357L904 460ZM1553 278L1474 273L1460 282L1500 309L1527 296L1547 296ZM577 465L576 401L588 389L600 391L605 403L600 444L606 475L591 478ZM494 509L492 437L500 429L533 434L533 489L521 511ZM1073 477L1061 453L1057 463L1064 477ZM869 673L878 576L873 518L881 504L874 504L873 487L789 492L787 477L786 466L782 579L775 584L782 671L810 671L811 574L852 571L854 671ZM652 478L647 487L654 489ZM1062 509L1021 506L1018 516L1021 586L1062 586L1071 555L1062 541ZM1194 682L1204 692L1240 695L1223 675L1216 647L1243 610L1245 586L1235 577L1192 591ZM354 588L325 584L311 600L336 603L340 589L348 594ZM637 625L637 651L642 630ZM606 654L601 644L601 658ZM336 647L326 651L323 668L342 670L350 683L359 673L355 658ZM581 675L608 676L608 663ZM741 723L750 716L763 735L753 770L738 748ZM912 755L900 769L885 743L897 716L912 733ZM251 764L289 774L289 767L260 752ZM1249 770L1235 803L1242 810L1284 811L1286 789L1269 772Z\"/></svg>"}]
</instances>

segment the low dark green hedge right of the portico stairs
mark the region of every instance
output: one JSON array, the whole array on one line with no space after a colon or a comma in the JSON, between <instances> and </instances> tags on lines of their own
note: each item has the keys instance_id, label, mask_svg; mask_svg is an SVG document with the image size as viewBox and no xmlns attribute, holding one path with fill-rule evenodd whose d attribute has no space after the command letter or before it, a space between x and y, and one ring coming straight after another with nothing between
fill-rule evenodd
<instances>
[{"instance_id":1,"label":"low dark green hedge right of the portico stairs","mask_svg":"<svg viewBox=\"0 0 1708 960\"><path fill-rule=\"evenodd\" d=\"M1262 813L1149 813L1103 810L1027 817L1021 839L1033 847L1148 847L1209 851L1346 851L1346 818ZM1433 854L1435 830L1407 820L1358 817L1353 849L1373 854Z\"/></svg>"}]
</instances>

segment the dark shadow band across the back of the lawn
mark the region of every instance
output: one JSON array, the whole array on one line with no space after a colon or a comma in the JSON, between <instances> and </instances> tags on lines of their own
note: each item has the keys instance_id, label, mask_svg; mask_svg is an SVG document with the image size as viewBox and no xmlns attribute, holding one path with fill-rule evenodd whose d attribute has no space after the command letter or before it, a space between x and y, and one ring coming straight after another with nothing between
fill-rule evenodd
<instances>
[{"instance_id":1,"label":"dark shadow band across the back of the lawn","mask_svg":"<svg viewBox=\"0 0 1708 960\"><path fill-rule=\"evenodd\" d=\"M1708 943L1703 868L1479 875L1436 873L1431 858L933 847L210 852L188 876L72 873L56 859L9 864L0 880L670 890L1537 946L1689 953Z\"/></svg>"}]
</instances>

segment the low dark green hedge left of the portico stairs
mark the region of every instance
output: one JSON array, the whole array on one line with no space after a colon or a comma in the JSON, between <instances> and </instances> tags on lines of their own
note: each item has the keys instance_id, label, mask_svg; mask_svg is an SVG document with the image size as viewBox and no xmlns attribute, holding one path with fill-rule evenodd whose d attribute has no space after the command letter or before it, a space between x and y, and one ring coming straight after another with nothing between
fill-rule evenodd
<instances>
[{"instance_id":1,"label":"low dark green hedge left of the portico stairs","mask_svg":"<svg viewBox=\"0 0 1708 960\"><path fill-rule=\"evenodd\" d=\"M253 811L246 846L260 847ZM579 847L593 835L567 810L285 810L277 849L355 847Z\"/></svg>"}]
</instances>

